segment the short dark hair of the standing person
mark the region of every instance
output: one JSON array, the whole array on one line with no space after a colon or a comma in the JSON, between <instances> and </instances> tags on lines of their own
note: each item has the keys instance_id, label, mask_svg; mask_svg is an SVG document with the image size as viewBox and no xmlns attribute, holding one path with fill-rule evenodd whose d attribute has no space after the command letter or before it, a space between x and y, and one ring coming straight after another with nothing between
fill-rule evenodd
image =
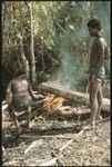
<instances>
[{"instance_id":1,"label":"short dark hair of the standing person","mask_svg":"<svg viewBox=\"0 0 112 167\"><path fill-rule=\"evenodd\" d=\"M90 28L96 28L99 31L101 30L101 21L99 19L91 19L86 23L88 27Z\"/></svg>"}]
</instances>

